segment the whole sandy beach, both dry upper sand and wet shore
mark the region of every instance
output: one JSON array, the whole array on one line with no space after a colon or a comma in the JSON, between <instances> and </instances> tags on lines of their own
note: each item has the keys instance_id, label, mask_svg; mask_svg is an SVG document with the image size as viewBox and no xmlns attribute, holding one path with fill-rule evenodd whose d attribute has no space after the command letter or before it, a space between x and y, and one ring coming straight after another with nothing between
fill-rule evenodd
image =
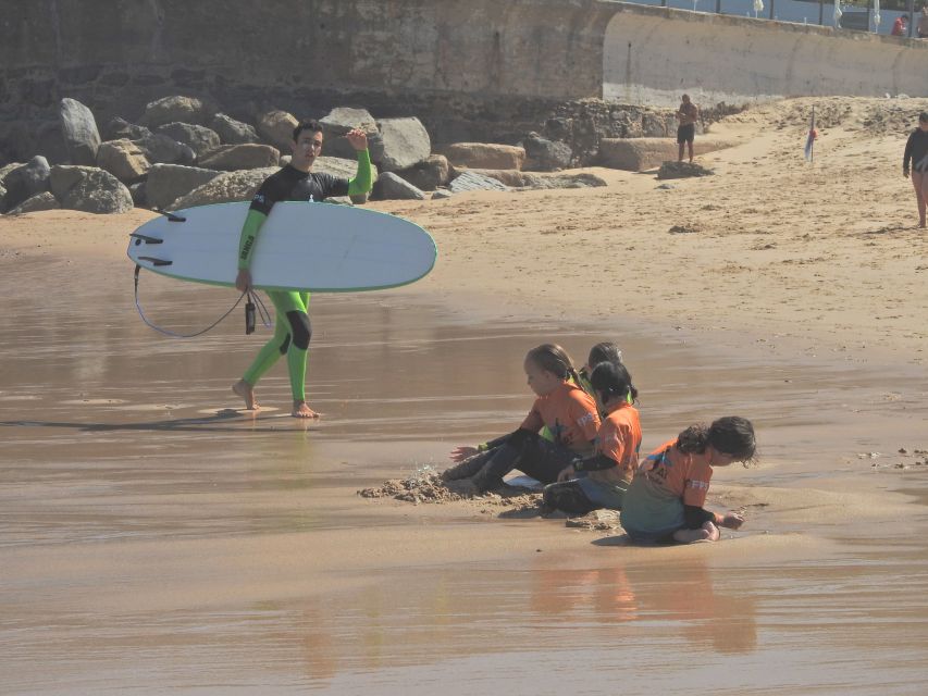
<instances>
[{"instance_id":1,"label":"whole sandy beach, both dry upper sand and wet shore","mask_svg":"<svg viewBox=\"0 0 928 696\"><path fill-rule=\"evenodd\" d=\"M283 365L237 410L265 335L238 313L189 341L141 323L125 247L150 211L0 217L9 693L920 694L928 233L901 163L926 109L753 108L713 125L741 142L697 158L713 176L669 187L594 169L607 187L371 203L438 263L313 298L312 423ZM175 327L235 295L140 286ZM754 421L758 465L708 501L741 531L635 548L503 500L357 495L518 425L531 347L582 364L604 339L643 450Z\"/></svg>"}]
</instances>

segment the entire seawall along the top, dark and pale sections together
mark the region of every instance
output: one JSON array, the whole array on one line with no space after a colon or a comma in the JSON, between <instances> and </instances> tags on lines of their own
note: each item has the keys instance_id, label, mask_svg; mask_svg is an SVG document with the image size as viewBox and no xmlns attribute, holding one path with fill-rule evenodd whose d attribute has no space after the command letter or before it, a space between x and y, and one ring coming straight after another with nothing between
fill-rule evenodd
<instances>
[{"instance_id":1,"label":"entire seawall along the top, dark and pale sections together","mask_svg":"<svg viewBox=\"0 0 928 696\"><path fill-rule=\"evenodd\" d=\"M928 41L608 0L0 0L0 159L173 94L249 121L363 105L436 142L516 141L557 104L928 94Z\"/></svg>"}]
</instances>

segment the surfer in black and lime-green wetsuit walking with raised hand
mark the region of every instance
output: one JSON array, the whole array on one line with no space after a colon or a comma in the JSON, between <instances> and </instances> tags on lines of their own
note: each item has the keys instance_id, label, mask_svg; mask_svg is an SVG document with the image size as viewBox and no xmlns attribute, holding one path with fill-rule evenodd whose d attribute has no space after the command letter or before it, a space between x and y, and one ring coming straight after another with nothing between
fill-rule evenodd
<instances>
[{"instance_id":1,"label":"surfer in black and lime-green wetsuit walking with raised hand","mask_svg":"<svg viewBox=\"0 0 928 696\"><path fill-rule=\"evenodd\" d=\"M371 157L368 137L355 128L346 136L358 153L358 171L351 179L339 178L324 172L313 172L312 165L322 151L322 126L315 121L304 121L294 128L293 159L289 164L269 176L248 209L238 244L238 275L235 287L245 293L252 289L249 264L255 252L261 225L274 203L281 201L322 201L332 196L358 196L371 190ZM306 402L306 363L312 327L307 308L309 293L269 290L274 304L274 335L258 352L232 390L245 400L245 408L257 410L255 385L281 358L287 357L287 371L293 391L294 418L319 418Z\"/></svg>"}]
</instances>

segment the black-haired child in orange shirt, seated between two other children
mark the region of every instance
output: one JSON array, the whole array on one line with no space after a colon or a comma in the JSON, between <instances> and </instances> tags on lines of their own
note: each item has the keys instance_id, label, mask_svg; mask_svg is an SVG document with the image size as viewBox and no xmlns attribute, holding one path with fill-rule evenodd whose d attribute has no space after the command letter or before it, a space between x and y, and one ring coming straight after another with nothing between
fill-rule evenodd
<instances>
[{"instance_id":1,"label":"black-haired child in orange shirt, seated between two other children","mask_svg":"<svg viewBox=\"0 0 928 696\"><path fill-rule=\"evenodd\" d=\"M621 510L638 469L641 421L632 406L638 389L629 371L621 363L602 362L590 375L590 385L604 418L596 434L595 453L569 464L558 475L558 483L545 486L543 507L548 511L585 514L598 508ZM583 475L585 472L589 473Z\"/></svg>"}]
</instances>

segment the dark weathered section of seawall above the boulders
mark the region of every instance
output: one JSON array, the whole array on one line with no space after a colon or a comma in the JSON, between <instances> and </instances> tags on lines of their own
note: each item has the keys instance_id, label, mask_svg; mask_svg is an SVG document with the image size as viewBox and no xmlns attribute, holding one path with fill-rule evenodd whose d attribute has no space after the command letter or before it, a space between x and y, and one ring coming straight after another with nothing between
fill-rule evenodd
<instances>
[{"instance_id":1,"label":"dark weathered section of seawall above the boulders","mask_svg":"<svg viewBox=\"0 0 928 696\"><path fill-rule=\"evenodd\" d=\"M611 13L596 0L0 0L2 97L587 97Z\"/></svg>"}]
</instances>

